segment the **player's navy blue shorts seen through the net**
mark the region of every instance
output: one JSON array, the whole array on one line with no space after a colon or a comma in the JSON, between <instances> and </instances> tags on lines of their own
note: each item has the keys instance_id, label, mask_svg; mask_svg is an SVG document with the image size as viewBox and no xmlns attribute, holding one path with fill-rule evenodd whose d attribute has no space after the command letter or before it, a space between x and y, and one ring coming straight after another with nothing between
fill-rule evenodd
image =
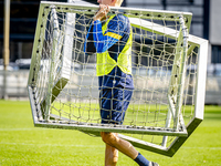
<instances>
[{"instance_id":1,"label":"player's navy blue shorts seen through the net","mask_svg":"<svg viewBox=\"0 0 221 166\"><path fill-rule=\"evenodd\" d=\"M102 89L99 91L102 123L123 124L131 94L133 90Z\"/></svg>"}]
</instances>

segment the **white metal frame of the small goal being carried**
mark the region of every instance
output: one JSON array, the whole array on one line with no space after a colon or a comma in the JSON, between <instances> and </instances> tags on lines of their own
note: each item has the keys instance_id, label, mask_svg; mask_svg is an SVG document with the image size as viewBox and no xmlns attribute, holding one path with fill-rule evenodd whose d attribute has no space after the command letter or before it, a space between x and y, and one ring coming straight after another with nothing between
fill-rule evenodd
<instances>
[{"instance_id":1,"label":"white metal frame of the small goal being carried","mask_svg":"<svg viewBox=\"0 0 221 166\"><path fill-rule=\"evenodd\" d=\"M50 104L53 103L55 97L60 94L61 91L65 87L70 80L70 71L71 71L71 62L69 61L72 56L72 50L60 48L59 43L64 42L69 43L70 45L73 44L73 30L69 29L69 27L74 27L73 20L75 19L75 13L84 11L85 13L95 13L97 11L97 6L84 6L84 4L77 4L77 3L60 3L60 2L41 2L40 10L39 10L39 18L38 18L38 25L35 31L35 38L34 38L34 45L32 51L32 62L30 68L30 74L29 74L29 81L28 81L28 91L29 91L29 97L30 97L30 104L32 108L32 115L33 115L33 122L35 126L40 127L52 127L52 128L67 128L67 129L78 129L86 133L92 133L94 135L98 135L101 131L103 132L117 132L117 133L135 133L135 134L149 134L149 135L165 135L164 141L161 145L156 145L152 143L147 143L145 141L140 141L134 137L129 137L123 134L119 134L119 137L129 141L134 146L148 149L158 154L162 154L166 156L172 156L180 146L187 141L187 138L192 134L192 132L197 128L197 126L201 123L203 120L203 110L204 110L204 87L206 87L206 73L207 73L207 54L208 54L208 41L203 40L201 38L190 35L188 34L188 30L190 28L191 22L191 13L187 12L170 12L170 11L158 11L158 10L137 10L131 8L110 8L110 13L116 12L123 12L127 13L129 11L129 14L127 14L130 19L130 23L133 27L141 27L144 30L149 30L150 27L155 27L152 22L145 21L147 18L151 19L160 19L164 17L164 19L175 19L179 20L182 24L180 28L180 33L175 33L175 30L171 30L169 28L160 29L159 25L156 25L156 29L151 29L155 33L158 34L167 34L168 38L171 39L178 39L182 38L182 41L177 43L177 48L182 48L181 54L182 59L186 59L188 54L196 48L198 49L198 69L197 69L197 82L196 82L196 96L194 96L194 114L193 117L190 120L188 125L185 125L185 122L182 120L182 116L180 116L180 108L182 98L178 97L178 95L175 95L176 93L183 93L183 85L180 84L179 87L172 89L173 84L179 84L178 82L181 82L185 76L185 63L182 63L179 66L179 71L181 75L179 79L176 79L176 76L170 79L170 89L168 90L168 103L170 105L170 111L168 111L168 122L165 128L158 128L158 127L135 127L135 126L123 126L123 125L95 125L95 124L86 124L86 123L77 123L74 121L70 121L66 117L56 117L57 115L50 115ZM67 12L66 15L66 29L64 38L61 39L59 35L59 21L56 18L55 12L60 10L65 10ZM46 27L46 19L48 13L51 11L52 21L54 23L54 30L53 30L53 37L55 40L53 41L52 49L52 60L55 61L57 52L63 49L63 59L61 60L61 72L60 76L56 80L55 83L51 81L48 87L48 93L45 95L45 98L42 101L39 101L36 96L36 86L35 86L35 80L38 75L38 71L41 66L36 66L35 64L40 64L41 62L41 52L42 52L42 44L43 44L43 38L45 35L44 29ZM144 20L140 20L140 22L137 23L136 18L144 18ZM140 17L141 15L141 17ZM149 24L149 25L148 25ZM66 45L66 44L64 44ZM181 45L181 46L180 46ZM178 49L177 49L178 50ZM178 56L180 54L177 53L177 58L175 56L175 61L179 61ZM53 62L52 61L52 62ZM185 61L185 60L183 60ZM51 63L51 69L56 69L54 66L56 64ZM178 66L172 66L172 73L171 75L176 75ZM49 80L53 80L53 75L49 74ZM179 95L180 96L180 95ZM180 106L175 108L173 103L178 102ZM44 110L44 111L43 111ZM176 123L179 123L179 125L176 125L175 128L169 128L171 116L176 117ZM51 121L50 118L59 118L60 121ZM166 146L167 136L176 136L173 142Z\"/></svg>"}]
</instances>

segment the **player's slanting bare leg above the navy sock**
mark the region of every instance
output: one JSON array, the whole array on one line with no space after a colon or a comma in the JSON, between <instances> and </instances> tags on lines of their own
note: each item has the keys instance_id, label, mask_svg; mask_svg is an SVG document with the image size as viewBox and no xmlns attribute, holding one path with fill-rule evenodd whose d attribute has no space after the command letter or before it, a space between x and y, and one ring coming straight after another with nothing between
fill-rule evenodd
<instances>
[{"instance_id":1,"label":"player's slanting bare leg above the navy sock","mask_svg":"<svg viewBox=\"0 0 221 166\"><path fill-rule=\"evenodd\" d=\"M135 159L138 156L138 152L134 148L134 146L129 142L120 139L117 134L102 132L101 136L103 142L112 147L115 147L131 159Z\"/></svg>"}]
</instances>

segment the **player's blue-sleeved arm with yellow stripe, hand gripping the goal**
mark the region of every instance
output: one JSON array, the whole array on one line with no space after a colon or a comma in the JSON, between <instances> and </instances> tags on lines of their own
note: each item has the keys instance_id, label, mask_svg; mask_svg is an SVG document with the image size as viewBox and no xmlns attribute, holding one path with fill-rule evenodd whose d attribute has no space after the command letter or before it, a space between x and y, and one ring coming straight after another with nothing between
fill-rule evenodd
<instances>
[{"instance_id":1,"label":"player's blue-sleeved arm with yellow stripe, hand gripping the goal","mask_svg":"<svg viewBox=\"0 0 221 166\"><path fill-rule=\"evenodd\" d=\"M128 23L123 15L117 15L110 20L107 27L107 31L103 34L101 20L102 18L106 17L108 11L108 6L106 7L101 4L101 9L97 14L95 14L94 21L92 23L93 25L91 25L87 38L85 40L85 52L91 52L91 50L93 50L92 52L96 51L97 53L105 52L122 39L126 24Z\"/></svg>"}]
</instances>

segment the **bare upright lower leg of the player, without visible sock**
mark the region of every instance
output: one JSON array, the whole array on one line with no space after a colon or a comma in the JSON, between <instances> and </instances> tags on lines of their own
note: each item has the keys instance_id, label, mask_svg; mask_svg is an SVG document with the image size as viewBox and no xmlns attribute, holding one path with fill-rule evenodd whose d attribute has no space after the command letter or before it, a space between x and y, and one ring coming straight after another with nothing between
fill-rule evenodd
<instances>
[{"instance_id":1,"label":"bare upright lower leg of the player, without visible sock","mask_svg":"<svg viewBox=\"0 0 221 166\"><path fill-rule=\"evenodd\" d=\"M118 151L106 144L105 166L116 166L117 160L118 160Z\"/></svg>"}]
</instances>

